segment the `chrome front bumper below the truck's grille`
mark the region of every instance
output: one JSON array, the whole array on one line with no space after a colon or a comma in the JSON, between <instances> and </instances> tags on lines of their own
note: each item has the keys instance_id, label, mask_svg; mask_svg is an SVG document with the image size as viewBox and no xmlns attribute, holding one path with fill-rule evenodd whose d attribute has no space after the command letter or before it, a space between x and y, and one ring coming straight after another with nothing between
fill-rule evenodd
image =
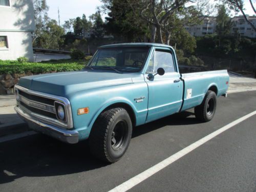
<instances>
[{"instance_id":1,"label":"chrome front bumper below the truck's grille","mask_svg":"<svg viewBox=\"0 0 256 192\"><path fill-rule=\"evenodd\" d=\"M30 129L35 130L36 132L44 133L66 143L78 142L77 131L69 131L61 129L54 125L41 122L35 117L31 116L29 113L24 112L18 106L15 106L14 110L22 119L24 119L28 123Z\"/></svg>"}]
</instances>

